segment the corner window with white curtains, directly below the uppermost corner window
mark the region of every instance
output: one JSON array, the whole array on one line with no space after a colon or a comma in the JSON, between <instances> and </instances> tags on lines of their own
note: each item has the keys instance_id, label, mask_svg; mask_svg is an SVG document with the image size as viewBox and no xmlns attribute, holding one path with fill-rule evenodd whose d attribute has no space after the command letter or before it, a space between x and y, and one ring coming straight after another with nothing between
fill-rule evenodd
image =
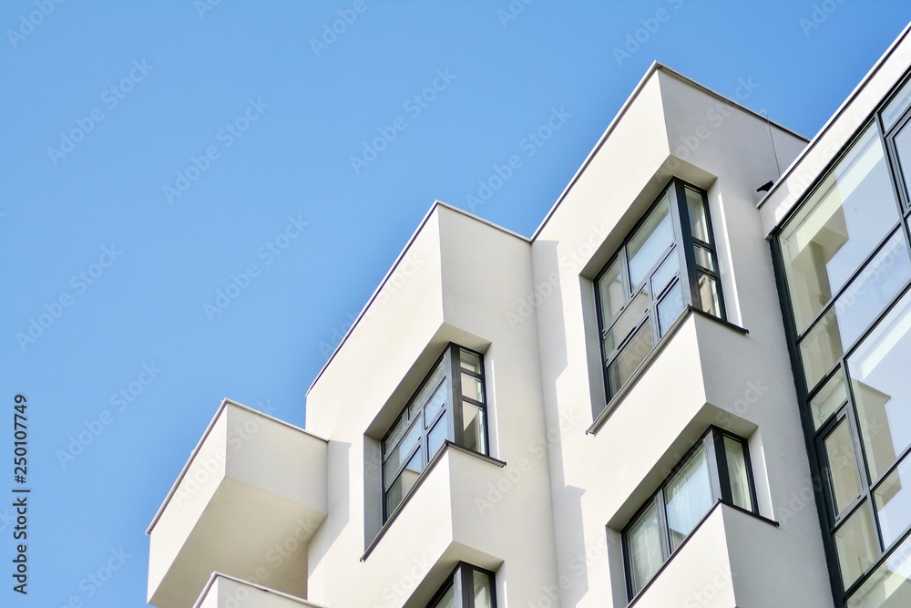
<instances>
[{"instance_id":1,"label":"corner window with white curtains, directly below the uppermost corner window","mask_svg":"<svg viewBox=\"0 0 911 608\"><path fill-rule=\"evenodd\" d=\"M712 427L623 531L630 600L719 500L756 510L746 442Z\"/></svg>"}]
</instances>

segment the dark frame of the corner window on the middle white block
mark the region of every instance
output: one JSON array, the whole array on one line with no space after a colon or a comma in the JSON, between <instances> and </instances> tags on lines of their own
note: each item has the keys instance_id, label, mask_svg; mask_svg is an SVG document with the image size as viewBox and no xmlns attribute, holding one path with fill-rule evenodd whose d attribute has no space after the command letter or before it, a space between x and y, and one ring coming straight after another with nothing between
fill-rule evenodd
<instances>
[{"instance_id":1,"label":"dark frame of the corner window on the middle white block","mask_svg":"<svg viewBox=\"0 0 911 608\"><path fill-rule=\"evenodd\" d=\"M465 367L462 366L462 358L461 358L462 351L465 351L466 353L469 353L470 355L474 355L478 358L479 367L481 370L480 373L476 373L475 371L466 369ZM412 407L412 405L415 402L415 398L417 398L421 394L421 391L424 390L425 386L427 386L427 383L433 378L433 376L437 372L438 368L440 366L444 365L447 355L449 357L449 360L448 360L449 366L444 370L442 382L445 383L445 381L448 379L449 391L448 391L448 394L446 397L446 402L445 402L444 406L441 407L440 411L435 414L433 421L430 422L429 424L425 425L423 422L423 419L424 419L425 407L427 404L424 404L421 407L420 416L416 416L414 420L412 420L411 422L408 423L408 425L405 427L405 430L402 433L402 436L399 438L399 440L394 444L394 446L392 448L387 450L385 448L386 439L389 438L389 436L392 434L392 432L393 432L394 428L396 427L396 425L398 424L399 420L402 417L407 416L408 410ZM471 377L476 378L477 380L480 380L482 396L484 397L484 403L481 403L471 397L466 397L463 394L463 392L462 392L462 374L465 374L466 376L471 376ZM399 414L394 418L393 423L390 425L389 429L385 432L383 438L380 439L380 471L381 471L380 483L381 483L381 489L382 489L382 494L383 494L383 521L384 522L389 519L390 515L392 515L392 513L395 510L395 508L393 508L391 510L388 508L388 504L387 504L387 500L386 500L388 491L389 491L389 489L391 489L393 487L395 481L402 476L402 474L404 473L404 470L408 468L408 463L411 461L411 459L415 458L415 454L417 454L418 452L421 453L421 470L423 471L427 468L430 461L434 459L436 451L443 449L443 447L445 446L446 440L455 443L455 445L457 445L459 447L465 448L465 429L462 427L462 424L461 424L461 420L463 417L463 407L462 407L463 400L475 407L480 408L481 417L482 417L483 426L484 426L484 451L477 452L477 453L482 454L484 456L488 456L490 454L490 432L489 432L489 427L487 425L486 390L487 390L487 387L486 387L486 378L485 378L484 355L475 350L472 350L471 348L467 348L466 346L457 345L457 344L455 344L455 342L450 342L449 344L447 344L445 346L445 348L443 349L443 352L440 354L440 356L438 356L436 358L434 365L430 367L430 371L428 371L427 374L424 376L424 378L421 380L421 383L417 386L417 388L415 389L415 392L412 394L411 397L408 398L408 401L405 403L404 407L402 408L402 411L400 411ZM432 395L433 394L431 394L431 396ZM440 445L439 448L437 448L435 450L434 454L431 454L429 452L428 439L430 437L431 432L436 428L436 425L440 422L440 420L446 416L447 412L450 414L450 416L448 417L448 420L447 420L445 441ZM395 469L394 474L391 476L392 479L389 479L389 483L386 483L386 481L387 481L386 460L388 459L389 454L391 454L394 451L394 448L397 448L399 445L401 445L401 442L404 441L404 438L407 438L409 436L411 429L415 426L422 427L420 439L418 440L417 445L410 452L408 452L408 454L404 455L403 457L400 457L399 467L397 469ZM469 448L466 448L466 449L469 449ZM476 450L471 450L471 451L476 451ZM399 503L404 502L406 494L407 494L407 492L403 492L402 500L400 500Z\"/></svg>"}]
</instances>

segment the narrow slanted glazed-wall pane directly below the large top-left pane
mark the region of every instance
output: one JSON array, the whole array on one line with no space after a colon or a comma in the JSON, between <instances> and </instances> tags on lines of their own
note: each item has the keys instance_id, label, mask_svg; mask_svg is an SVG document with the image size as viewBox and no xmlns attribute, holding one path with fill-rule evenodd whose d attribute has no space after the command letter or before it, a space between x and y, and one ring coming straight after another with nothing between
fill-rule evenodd
<instances>
[{"instance_id":1,"label":"narrow slanted glazed-wall pane directly below the large top-left pane","mask_svg":"<svg viewBox=\"0 0 911 608\"><path fill-rule=\"evenodd\" d=\"M800 343L807 386L815 386L911 278L905 236L885 243Z\"/></svg>"}]
</instances>

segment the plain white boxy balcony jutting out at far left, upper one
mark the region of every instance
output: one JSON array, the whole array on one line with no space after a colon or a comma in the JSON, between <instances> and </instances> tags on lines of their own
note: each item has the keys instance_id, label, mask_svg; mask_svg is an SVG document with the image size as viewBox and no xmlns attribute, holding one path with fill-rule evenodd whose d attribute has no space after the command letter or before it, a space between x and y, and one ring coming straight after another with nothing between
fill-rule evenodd
<instances>
[{"instance_id":1,"label":"plain white boxy balcony jutting out at far left, upper one","mask_svg":"<svg viewBox=\"0 0 911 608\"><path fill-rule=\"evenodd\" d=\"M327 445L223 401L148 527L148 603L187 608L215 571L304 597Z\"/></svg>"}]
</instances>

